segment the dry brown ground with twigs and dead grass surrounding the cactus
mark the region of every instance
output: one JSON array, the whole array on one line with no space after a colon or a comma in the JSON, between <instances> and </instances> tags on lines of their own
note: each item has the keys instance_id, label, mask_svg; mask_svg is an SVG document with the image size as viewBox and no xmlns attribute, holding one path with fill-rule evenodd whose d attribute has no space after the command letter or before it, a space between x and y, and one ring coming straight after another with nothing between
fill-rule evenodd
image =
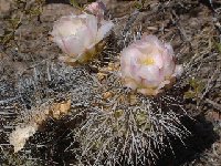
<instances>
[{"instance_id":1,"label":"dry brown ground with twigs and dead grass surrounding the cactus","mask_svg":"<svg viewBox=\"0 0 221 166\"><path fill-rule=\"evenodd\" d=\"M186 77L189 79L182 82L183 94L188 115L194 120L183 120L183 124L192 135L186 139L186 146L175 139L173 153L165 152L157 165L221 166L221 2L104 2L107 15L116 24L113 32L116 39L127 41L135 33L155 34L171 42L178 61L188 69ZM83 7L87 0L77 3ZM19 104L20 92L15 87L22 90L21 80L30 77L35 68L57 62L62 52L49 33L55 20L70 13L80 13L80 10L69 0L0 0L0 165L71 165L76 160L72 152L65 151L75 142L71 137L72 128L66 127L69 117L48 120L21 153L13 154L8 138L22 110L38 104L38 100L29 98Z\"/></svg>"}]
</instances>

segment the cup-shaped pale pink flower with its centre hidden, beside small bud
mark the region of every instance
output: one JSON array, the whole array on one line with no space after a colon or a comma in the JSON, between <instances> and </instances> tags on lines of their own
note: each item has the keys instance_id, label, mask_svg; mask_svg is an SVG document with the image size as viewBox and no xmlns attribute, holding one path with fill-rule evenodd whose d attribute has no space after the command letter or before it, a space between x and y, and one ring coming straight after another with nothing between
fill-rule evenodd
<instances>
[{"instance_id":1,"label":"cup-shaped pale pink flower with its centre hidden, beside small bud","mask_svg":"<svg viewBox=\"0 0 221 166\"><path fill-rule=\"evenodd\" d=\"M112 21L99 21L96 15L62 17L53 27L52 40L66 55L60 60L66 63L84 63L92 60L103 48L103 39L113 28Z\"/></svg>"}]
</instances>

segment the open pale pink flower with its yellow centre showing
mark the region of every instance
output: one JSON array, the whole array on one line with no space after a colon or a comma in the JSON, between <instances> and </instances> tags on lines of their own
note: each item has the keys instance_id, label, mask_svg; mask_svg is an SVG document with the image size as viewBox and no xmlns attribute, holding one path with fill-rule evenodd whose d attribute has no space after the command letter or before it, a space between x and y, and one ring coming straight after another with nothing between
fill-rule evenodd
<instances>
[{"instance_id":1,"label":"open pale pink flower with its yellow centre showing","mask_svg":"<svg viewBox=\"0 0 221 166\"><path fill-rule=\"evenodd\" d=\"M181 75L183 68L177 65L170 44L154 35L143 35L120 54L124 84L146 95L156 95L162 87Z\"/></svg>"}]
</instances>

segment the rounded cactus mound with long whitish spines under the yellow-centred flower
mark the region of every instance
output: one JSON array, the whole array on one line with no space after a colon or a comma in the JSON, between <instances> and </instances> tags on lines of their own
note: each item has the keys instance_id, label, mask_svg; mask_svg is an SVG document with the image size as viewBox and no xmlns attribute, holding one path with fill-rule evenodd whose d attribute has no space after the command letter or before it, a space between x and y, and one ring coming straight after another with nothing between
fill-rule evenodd
<instances>
[{"instance_id":1,"label":"rounded cactus mound with long whitish spines under the yellow-centred flower","mask_svg":"<svg viewBox=\"0 0 221 166\"><path fill-rule=\"evenodd\" d=\"M190 134L180 122L182 104L172 95L154 98L134 94L123 89L114 74L98 90L103 96L94 94L96 102L76 128L83 164L152 164L151 159L170 146L170 136L182 142Z\"/></svg>"}]
</instances>

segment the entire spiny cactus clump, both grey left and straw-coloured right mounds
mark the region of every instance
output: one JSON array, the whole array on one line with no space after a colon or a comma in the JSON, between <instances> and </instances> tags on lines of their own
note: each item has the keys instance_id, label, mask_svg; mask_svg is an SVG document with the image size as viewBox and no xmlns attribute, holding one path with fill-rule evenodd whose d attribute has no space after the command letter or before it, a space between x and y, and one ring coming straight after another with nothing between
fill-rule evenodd
<instances>
[{"instance_id":1,"label":"entire spiny cactus clump, both grey left and straw-coloured right mounds","mask_svg":"<svg viewBox=\"0 0 221 166\"><path fill-rule=\"evenodd\" d=\"M165 148L172 151L170 137L182 142L190 135L180 122L186 116L182 96L179 97L180 82L159 96L147 97L124 87L116 53L106 63L98 60L70 68L45 61L30 69L30 75L22 75L14 85L15 100L9 97L8 102L20 107L17 125L36 123L36 132L43 122L55 118L49 113L54 103L71 100L70 111L64 114L70 122L82 120L76 122L77 127L69 126L80 149L73 143L67 149L75 152L78 164L152 164Z\"/></svg>"}]
</instances>

